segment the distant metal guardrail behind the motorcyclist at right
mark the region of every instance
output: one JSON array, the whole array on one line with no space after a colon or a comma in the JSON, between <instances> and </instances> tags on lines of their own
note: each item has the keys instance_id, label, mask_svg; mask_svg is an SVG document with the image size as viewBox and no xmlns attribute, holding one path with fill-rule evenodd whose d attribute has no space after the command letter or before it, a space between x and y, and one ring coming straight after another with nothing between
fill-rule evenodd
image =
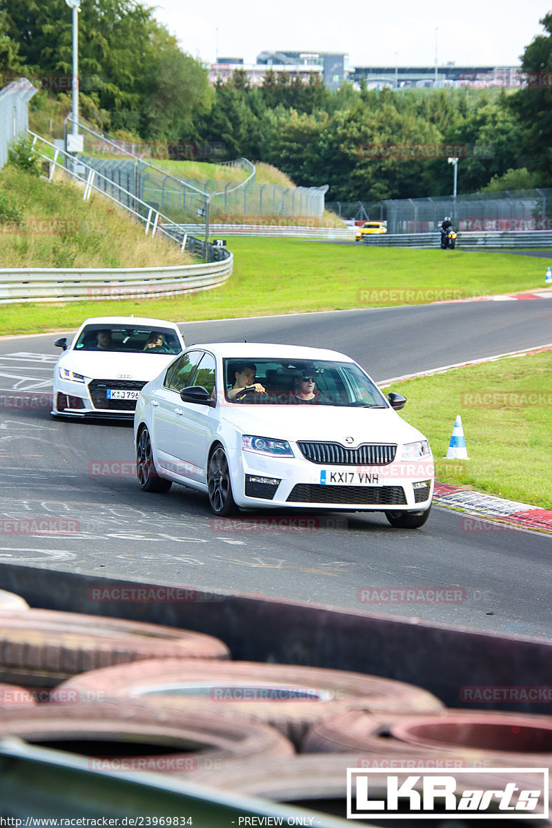
<instances>
[{"instance_id":1,"label":"distant metal guardrail behind the motorcyclist at right","mask_svg":"<svg viewBox=\"0 0 552 828\"><path fill-rule=\"evenodd\" d=\"M364 244L395 248L439 248L440 233L385 233L363 236ZM508 230L504 233L458 233L458 246L463 248L549 248L552 233L548 230Z\"/></svg>"}]
</instances>

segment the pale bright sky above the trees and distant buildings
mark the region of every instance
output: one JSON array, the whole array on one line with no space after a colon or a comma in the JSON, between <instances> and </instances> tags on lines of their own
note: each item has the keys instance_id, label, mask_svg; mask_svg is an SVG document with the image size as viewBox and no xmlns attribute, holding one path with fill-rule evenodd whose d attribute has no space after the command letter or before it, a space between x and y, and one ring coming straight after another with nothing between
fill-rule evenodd
<instances>
[{"instance_id":1,"label":"pale bright sky above the trees and distant buildings","mask_svg":"<svg viewBox=\"0 0 552 828\"><path fill-rule=\"evenodd\" d=\"M288 49L348 52L352 66L396 60L401 66L434 65L437 39L439 65L516 65L525 46L544 31L539 20L551 5L542 0L159 0L155 16L184 51L207 63L214 62L218 47L219 56L246 63L265 49Z\"/></svg>"}]
</instances>

